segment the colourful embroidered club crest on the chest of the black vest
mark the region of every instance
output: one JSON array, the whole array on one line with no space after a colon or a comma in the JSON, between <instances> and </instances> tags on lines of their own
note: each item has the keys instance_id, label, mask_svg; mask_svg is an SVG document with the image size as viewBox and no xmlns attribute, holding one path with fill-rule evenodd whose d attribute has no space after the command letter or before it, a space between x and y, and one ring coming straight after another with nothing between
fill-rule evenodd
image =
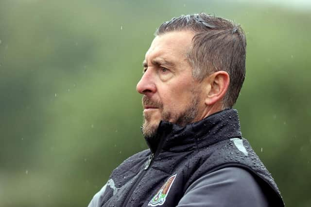
<instances>
[{"instance_id":1,"label":"colourful embroidered club crest on the chest of the black vest","mask_svg":"<svg viewBox=\"0 0 311 207\"><path fill-rule=\"evenodd\" d=\"M167 181L164 183L164 185L160 188L159 191L155 194L155 196L149 201L148 206L161 206L164 204L165 199L167 195L169 194L169 191L173 185L173 182L175 180L177 174L172 175L167 179Z\"/></svg>"}]
</instances>

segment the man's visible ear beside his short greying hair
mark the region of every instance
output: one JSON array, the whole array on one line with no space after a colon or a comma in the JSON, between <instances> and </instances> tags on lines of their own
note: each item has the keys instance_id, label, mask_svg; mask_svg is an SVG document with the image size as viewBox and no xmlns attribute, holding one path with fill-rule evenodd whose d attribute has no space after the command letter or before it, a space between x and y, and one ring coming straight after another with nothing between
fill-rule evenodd
<instances>
[{"instance_id":1,"label":"man's visible ear beside his short greying hair","mask_svg":"<svg viewBox=\"0 0 311 207\"><path fill-rule=\"evenodd\" d=\"M225 71L217 71L208 76L206 105L221 102L228 90L230 82L229 74Z\"/></svg>"}]
</instances>

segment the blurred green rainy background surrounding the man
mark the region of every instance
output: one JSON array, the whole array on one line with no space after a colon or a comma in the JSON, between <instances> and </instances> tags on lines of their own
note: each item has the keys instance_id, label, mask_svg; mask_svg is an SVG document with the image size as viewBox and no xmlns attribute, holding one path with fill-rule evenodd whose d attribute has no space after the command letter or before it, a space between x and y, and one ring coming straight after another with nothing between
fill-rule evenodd
<instances>
[{"instance_id":1,"label":"blurred green rainy background surrounding the man","mask_svg":"<svg viewBox=\"0 0 311 207\"><path fill-rule=\"evenodd\" d=\"M0 207L87 206L147 147L135 87L155 29L199 12L242 25L243 136L286 206L310 207L311 6L278 2L0 0Z\"/></svg>"}]
</instances>

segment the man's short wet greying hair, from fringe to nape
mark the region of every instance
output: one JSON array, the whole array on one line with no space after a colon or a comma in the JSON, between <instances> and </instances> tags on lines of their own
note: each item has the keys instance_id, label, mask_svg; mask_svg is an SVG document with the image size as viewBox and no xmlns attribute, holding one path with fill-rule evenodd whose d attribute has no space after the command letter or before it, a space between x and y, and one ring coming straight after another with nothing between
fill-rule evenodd
<instances>
[{"instance_id":1,"label":"man's short wet greying hair, from fringe to nape","mask_svg":"<svg viewBox=\"0 0 311 207\"><path fill-rule=\"evenodd\" d=\"M202 81L213 72L226 71L230 83L223 108L231 108L245 79L246 39L241 26L221 17L200 13L174 17L162 23L155 35L187 30L195 33L187 53L193 78Z\"/></svg>"}]
</instances>

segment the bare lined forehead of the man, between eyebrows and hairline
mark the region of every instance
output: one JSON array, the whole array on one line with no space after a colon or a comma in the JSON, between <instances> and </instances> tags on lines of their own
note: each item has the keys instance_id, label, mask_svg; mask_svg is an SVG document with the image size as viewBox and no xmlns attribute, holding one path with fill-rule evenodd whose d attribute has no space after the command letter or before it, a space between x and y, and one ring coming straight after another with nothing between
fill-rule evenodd
<instances>
[{"instance_id":1,"label":"bare lined forehead of the man, between eyebrows and hairline","mask_svg":"<svg viewBox=\"0 0 311 207\"><path fill-rule=\"evenodd\" d=\"M157 57L177 59L176 61L186 58L193 36L194 33L191 31L174 31L157 35L146 52L145 61L149 62L149 59Z\"/></svg>"}]
</instances>

